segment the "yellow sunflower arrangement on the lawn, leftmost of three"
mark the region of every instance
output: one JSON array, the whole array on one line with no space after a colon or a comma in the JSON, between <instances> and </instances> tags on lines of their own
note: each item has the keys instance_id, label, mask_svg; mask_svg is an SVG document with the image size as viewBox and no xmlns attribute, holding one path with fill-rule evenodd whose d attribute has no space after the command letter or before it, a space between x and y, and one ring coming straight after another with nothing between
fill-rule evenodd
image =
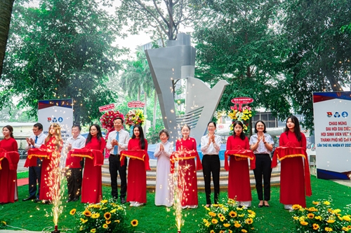
<instances>
[{"instance_id":1,"label":"yellow sunflower arrangement on the lawn, leftmost of three","mask_svg":"<svg viewBox=\"0 0 351 233\"><path fill-rule=\"evenodd\" d=\"M114 203L113 199L86 204L84 211L72 209L69 214L77 219L77 232L134 232L138 225L138 220L128 223L126 207Z\"/></svg>"}]
</instances>

